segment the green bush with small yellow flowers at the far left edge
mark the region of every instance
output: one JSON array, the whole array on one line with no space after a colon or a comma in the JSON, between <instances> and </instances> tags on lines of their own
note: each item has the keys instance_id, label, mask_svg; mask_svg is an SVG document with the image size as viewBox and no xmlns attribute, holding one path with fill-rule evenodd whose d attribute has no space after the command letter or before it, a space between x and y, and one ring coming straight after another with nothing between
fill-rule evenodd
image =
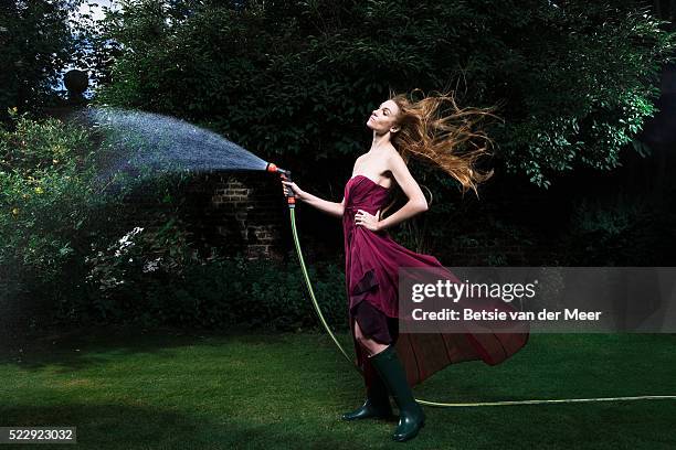
<instances>
[{"instance_id":1,"label":"green bush with small yellow flowers at the far left edge","mask_svg":"<svg viewBox=\"0 0 676 450\"><path fill-rule=\"evenodd\" d=\"M10 111L12 131L0 128L0 264L30 267L56 281L86 231L112 207L95 192L88 132L57 119L34 121Z\"/></svg>"}]
</instances>

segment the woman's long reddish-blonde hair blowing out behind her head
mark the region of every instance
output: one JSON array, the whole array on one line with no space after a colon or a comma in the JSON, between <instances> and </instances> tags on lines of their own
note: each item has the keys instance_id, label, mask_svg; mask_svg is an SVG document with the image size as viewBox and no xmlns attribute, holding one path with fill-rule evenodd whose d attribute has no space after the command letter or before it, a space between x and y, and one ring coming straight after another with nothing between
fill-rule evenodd
<instances>
[{"instance_id":1,"label":"woman's long reddish-blonde hair blowing out behind her head","mask_svg":"<svg viewBox=\"0 0 676 450\"><path fill-rule=\"evenodd\" d=\"M423 98L414 100L420 92ZM398 125L391 142L405 163L415 157L431 165L439 167L457 180L463 195L473 190L478 197L477 186L493 176L493 169L480 172L476 161L492 156L488 148L490 138L479 128L487 117L501 120L489 108L458 108L453 92L425 96L422 89L413 89L410 96L390 90L390 99L399 106ZM389 210L394 202L384 210Z\"/></svg>"}]
</instances>

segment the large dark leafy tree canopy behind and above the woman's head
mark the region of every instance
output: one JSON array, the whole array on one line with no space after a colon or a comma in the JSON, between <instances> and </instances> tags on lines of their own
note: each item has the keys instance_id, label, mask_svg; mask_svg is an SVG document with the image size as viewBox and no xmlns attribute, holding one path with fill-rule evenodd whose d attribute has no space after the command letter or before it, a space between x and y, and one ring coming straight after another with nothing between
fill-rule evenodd
<instances>
[{"instance_id":1,"label":"large dark leafy tree canopy behind and above the woman's head","mask_svg":"<svg viewBox=\"0 0 676 450\"><path fill-rule=\"evenodd\" d=\"M390 87L457 88L463 105L503 105L496 156L543 188L575 164L620 163L676 42L631 1L129 0L106 23L124 51L99 101L306 157L302 175L326 180L363 152Z\"/></svg>"}]
</instances>

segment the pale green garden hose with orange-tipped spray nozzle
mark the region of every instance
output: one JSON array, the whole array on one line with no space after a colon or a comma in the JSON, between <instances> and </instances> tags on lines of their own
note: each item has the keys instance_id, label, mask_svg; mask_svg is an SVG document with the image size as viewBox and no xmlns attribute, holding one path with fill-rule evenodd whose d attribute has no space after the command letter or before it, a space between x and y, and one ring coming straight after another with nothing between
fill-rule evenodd
<instances>
[{"instance_id":1,"label":"pale green garden hose with orange-tipped spray nozzle","mask_svg":"<svg viewBox=\"0 0 676 450\"><path fill-rule=\"evenodd\" d=\"M268 164L273 167L274 170L268 169L268 171L279 171L282 172L282 179L286 181L291 181L291 172L283 171L282 169L277 169L274 164ZM350 366L352 366L356 371L362 374L361 368L356 364L356 362L347 354L336 335L331 331L328 325L324 314L321 313L321 309L319 308L319 303L317 302L317 298L315 297L315 291L313 290L313 285L310 282L309 276L307 274L307 268L305 266L305 260L303 259L303 251L300 250L300 243L298 239L298 232L296 229L296 205L295 205L295 196L293 190L289 186L287 188L287 205L289 213L289 221L292 233L294 236L294 246L296 248L296 254L298 255L298 262L300 264L300 269L303 271L303 278L305 280L305 285L307 287L307 291L309 292L310 301L313 307L315 308L315 312L319 318L319 322L334 341L342 356L348 361ZM541 404L556 404L556 403L582 403L582 401L629 401L629 400L659 400L659 399L670 399L676 400L676 395L641 395L633 397L598 397L598 398L559 398L559 399L532 399L532 400L504 400L504 401L477 401L477 403L440 403L440 401L430 401L420 398L415 398L415 400L421 405L440 407L440 408L450 408L450 407L476 407L476 406L514 406L514 405L541 405Z\"/></svg>"}]
</instances>

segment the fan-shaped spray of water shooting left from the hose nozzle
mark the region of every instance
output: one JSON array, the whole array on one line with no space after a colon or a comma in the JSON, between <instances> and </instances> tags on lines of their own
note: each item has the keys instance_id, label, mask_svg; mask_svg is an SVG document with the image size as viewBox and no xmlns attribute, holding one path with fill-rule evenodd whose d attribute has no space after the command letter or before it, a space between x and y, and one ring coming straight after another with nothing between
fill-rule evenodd
<instances>
[{"instance_id":1,"label":"fan-shaped spray of water shooting left from the hose nozzle","mask_svg":"<svg viewBox=\"0 0 676 450\"><path fill-rule=\"evenodd\" d=\"M165 173L267 165L218 133L172 117L119 108L87 108L80 116L103 136L96 180L102 186Z\"/></svg>"}]
</instances>

